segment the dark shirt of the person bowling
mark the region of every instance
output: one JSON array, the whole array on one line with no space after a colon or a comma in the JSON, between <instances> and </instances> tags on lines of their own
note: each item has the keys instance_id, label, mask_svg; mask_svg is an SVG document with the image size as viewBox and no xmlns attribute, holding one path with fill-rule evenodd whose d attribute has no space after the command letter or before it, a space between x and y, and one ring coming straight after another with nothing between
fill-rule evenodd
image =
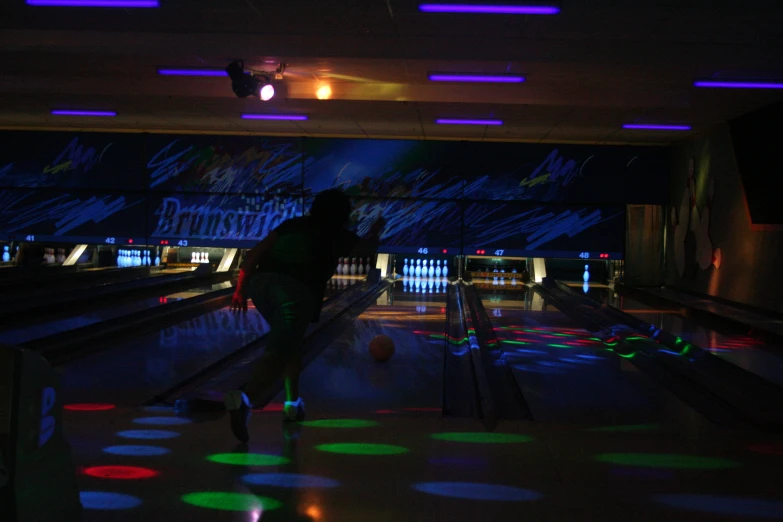
<instances>
[{"instance_id":1,"label":"dark shirt of the person bowling","mask_svg":"<svg viewBox=\"0 0 783 522\"><path fill-rule=\"evenodd\" d=\"M285 274L307 286L320 305L338 258L348 256L360 238L345 229L328 228L310 216L289 219L276 229L277 240L264 253L259 272Z\"/></svg>"}]
</instances>

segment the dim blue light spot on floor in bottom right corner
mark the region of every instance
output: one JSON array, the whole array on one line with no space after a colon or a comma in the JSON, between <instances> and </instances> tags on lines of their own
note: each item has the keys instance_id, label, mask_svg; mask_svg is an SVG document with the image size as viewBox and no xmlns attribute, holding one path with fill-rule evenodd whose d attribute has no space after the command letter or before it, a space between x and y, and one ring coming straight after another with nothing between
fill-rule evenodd
<instances>
[{"instance_id":1,"label":"dim blue light spot on floor in bottom right corner","mask_svg":"<svg viewBox=\"0 0 783 522\"><path fill-rule=\"evenodd\" d=\"M783 502L750 497L722 497L720 495L657 495L657 502L669 507L734 515L738 517L772 518L780 520Z\"/></svg>"}]
</instances>

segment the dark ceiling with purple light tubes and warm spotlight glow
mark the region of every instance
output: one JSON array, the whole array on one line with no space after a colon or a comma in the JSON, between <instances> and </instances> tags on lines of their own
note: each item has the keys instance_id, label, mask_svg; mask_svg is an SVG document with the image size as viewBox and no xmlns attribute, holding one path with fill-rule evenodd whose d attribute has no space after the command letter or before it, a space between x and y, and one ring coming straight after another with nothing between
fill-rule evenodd
<instances>
[{"instance_id":1,"label":"dark ceiling with purple light tubes and warm spotlight glow","mask_svg":"<svg viewBox=\"0 0 783 522\"><path fill-rule=\"evenodd\" d=\"M556 16L429 14L414 0L160 3L3 0L0 128L663 145L689 133L622 124L687 123L698 133L783 100L783 91L692 87L697 78L783 79L780 0L563 0ZM236 98L228 78L157 74L235 59L257 70L287 63L275 98ZM527 81L433 83L432 71L519 73ZM332 97L319 100L324 83ZM250 112L309 119L241 119Z\"/></svg>"}]
</instances>

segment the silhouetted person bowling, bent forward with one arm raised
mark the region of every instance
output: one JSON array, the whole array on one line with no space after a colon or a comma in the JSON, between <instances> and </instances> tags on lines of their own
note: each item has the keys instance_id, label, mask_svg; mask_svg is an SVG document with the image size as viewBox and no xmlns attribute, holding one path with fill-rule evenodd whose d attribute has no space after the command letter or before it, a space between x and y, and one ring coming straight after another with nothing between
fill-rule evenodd
<instances>
[{"instance_id":1,"label":"silhouetted person bowling, bent forward with one arm raised","mask_svg":"<svg viewBox=\"0 0 783 522\"><path fill-rule=\"evenodd\" d=\"M386 225L381 217L360 238L345 229L350 215L351 201L345 193L320 192L309 215L281 223L242 262L231 309L246 312L247 299L252 299L270 332L250 380L224 397L231 431L241 442L249 440L247 424L253 404L281 375L285 378L283 419L304 419L299 373L308 324L320 318L326 285L338 258L374 255Z\"/></svg>"}]
</instances>

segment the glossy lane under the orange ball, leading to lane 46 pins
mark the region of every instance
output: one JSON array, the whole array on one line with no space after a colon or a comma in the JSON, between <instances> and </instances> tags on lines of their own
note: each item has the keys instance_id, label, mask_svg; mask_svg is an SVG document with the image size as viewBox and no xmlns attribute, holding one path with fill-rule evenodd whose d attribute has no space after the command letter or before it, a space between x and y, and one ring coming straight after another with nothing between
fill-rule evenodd
<instances>
[{"instance_id":1,"label":"glossy lane under the orange ball, leading to lane 46 pins","mask_svg":"<svg viewBox=\"0 0 783 522\"><path fill-rule=\"evenodd\" d=\"M405 293L400 282L380 295L303 372L300 388L308 414L440 412L445 297ZM379 334L395 344L385 363L369 353L370 341Z\"/></svg>"}]
</instances>

